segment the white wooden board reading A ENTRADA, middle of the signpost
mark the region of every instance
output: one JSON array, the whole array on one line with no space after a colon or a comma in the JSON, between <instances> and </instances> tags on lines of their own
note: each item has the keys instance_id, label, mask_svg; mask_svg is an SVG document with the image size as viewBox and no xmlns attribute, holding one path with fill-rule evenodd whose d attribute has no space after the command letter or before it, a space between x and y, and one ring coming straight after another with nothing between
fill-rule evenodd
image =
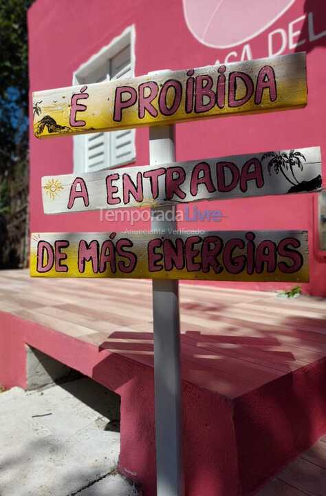
<instances>
[{"instance_id":1,"label":"white wooden board reading A ENTRADA, middle of the signpost","mask_svg":"<svg viewBox=\"0 0 326 496\"><path fill-rule=\"evenodd\" d=\"M42 178L45 214L157 207L321 189L320 148L278 150Z\"/></svg>"}]
</instances>

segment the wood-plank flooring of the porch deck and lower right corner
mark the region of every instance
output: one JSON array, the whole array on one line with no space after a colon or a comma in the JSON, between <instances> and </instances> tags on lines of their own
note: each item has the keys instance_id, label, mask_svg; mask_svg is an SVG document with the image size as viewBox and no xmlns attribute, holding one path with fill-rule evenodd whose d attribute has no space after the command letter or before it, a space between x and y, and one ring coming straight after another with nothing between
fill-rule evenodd
<instances>
[{"instance_id":1,"label":"wood-plank flooring of the porch deck and lower right corner","mask_svg":"<svg viewBox=\"0 0 326 496\"><path fill-rule=\"evenodd\" d=\"M1 271L0 311L153 365L149 281ZM231 399L326 355L322 298L180 284L180 312L183 377ZM326 437L259 493L276 495L326 495Z\"/></svg>"}]
</instances>

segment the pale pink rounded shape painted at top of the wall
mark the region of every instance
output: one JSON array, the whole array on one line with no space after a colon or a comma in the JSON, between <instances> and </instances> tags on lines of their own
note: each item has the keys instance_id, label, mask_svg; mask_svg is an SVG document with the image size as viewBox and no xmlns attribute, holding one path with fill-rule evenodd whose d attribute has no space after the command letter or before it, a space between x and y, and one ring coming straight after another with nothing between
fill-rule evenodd
<instances>
[{"instance_id":1,"label":"pale pink rounded shape painted at top of the wall","mask_svg":"<svg viewBox=\"0 0 326 496\"><path fill-rule=\"evenodd\" d=\"M193 36L213 48L248 41L279 19L295 0L183 0Z\"/></svg>"}]
</instances>

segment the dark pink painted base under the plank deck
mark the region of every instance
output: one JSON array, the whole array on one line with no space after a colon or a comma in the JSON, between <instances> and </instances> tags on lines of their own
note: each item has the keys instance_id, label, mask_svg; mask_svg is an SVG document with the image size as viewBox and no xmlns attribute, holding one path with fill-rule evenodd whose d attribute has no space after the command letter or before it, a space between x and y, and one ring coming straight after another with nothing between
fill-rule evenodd
<instances>
[{"instance_id":1,"label":"dark pink painted base under the plank deck","mask_svg":"<svg viewBox=\"0 0 326 496\"><path fill-rule=\"evenodd\" d=\"M121 396L120 471L155 496L153 368L2 312L3 386L26 386L25 343ZM326 433L325 383L325 358L234 398L184 380L186 496L253 494Z\"/></svg>"}]
</instances>

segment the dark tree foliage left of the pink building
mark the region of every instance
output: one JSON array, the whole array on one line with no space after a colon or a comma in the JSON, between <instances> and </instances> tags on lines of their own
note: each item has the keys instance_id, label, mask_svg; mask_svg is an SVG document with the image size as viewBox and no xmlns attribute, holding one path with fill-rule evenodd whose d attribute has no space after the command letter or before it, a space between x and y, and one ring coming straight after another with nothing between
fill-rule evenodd
<instances>
[{"instance_id":1,"label":"dark tree foliage left of the pink building","mask_svg":"<svg viewBox=\"0 0 326 496\"><path fill-rule=\"evenodd\" d=\"M27 11L32 2L0 0L0 269L25 263L27 217L19 205L26 205L28 195Z\"/></svg>"}]
</instances>

